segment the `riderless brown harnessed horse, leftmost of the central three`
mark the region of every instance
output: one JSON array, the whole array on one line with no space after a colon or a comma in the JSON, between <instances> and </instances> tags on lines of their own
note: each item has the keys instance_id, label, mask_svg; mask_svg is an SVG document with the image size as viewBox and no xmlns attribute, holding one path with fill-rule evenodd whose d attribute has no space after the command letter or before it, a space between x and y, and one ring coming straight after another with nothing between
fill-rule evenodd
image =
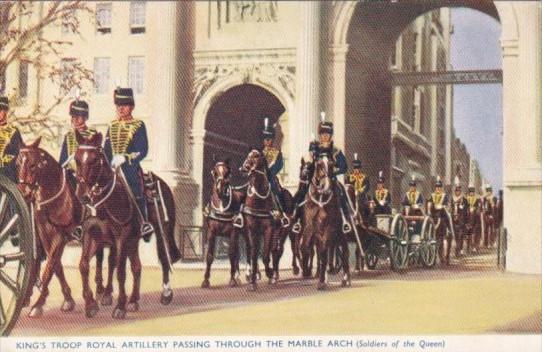
<instances>
[{"instance_id":1,"label":"riderless brown harnessed horse, leftmost of the central three","mask_svg":"<svg viewBox=\"0 0 542 352\"><path fill-rule=\"evenodd\" d=\"M213 177L213 187L206 216L207 266L201 287L210 287L209 278L211 277L211 265L213 264L217 236L224 236L230 240L228 253L230 258L229 285L234 287L238 284L235 275L239 267L239 238L237 230L233 226L233 219L244 201L244 193L234 190L230 184L231 168L229 160L217 162L211 171L211 175Z\"/></svg>"}]
</instances>

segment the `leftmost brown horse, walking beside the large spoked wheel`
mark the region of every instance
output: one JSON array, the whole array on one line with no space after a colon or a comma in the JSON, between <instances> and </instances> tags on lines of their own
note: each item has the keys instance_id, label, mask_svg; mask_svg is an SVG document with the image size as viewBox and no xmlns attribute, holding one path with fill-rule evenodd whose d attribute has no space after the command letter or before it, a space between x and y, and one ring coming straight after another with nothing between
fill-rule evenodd
<instances>
[{"instance_id":1,"label":"leftmost brown horse, walking beside the large spoked wheel","mask_svg":"<svg viewBox=\"0 0 542 352\"><path fill-rule=\"evenodd\" d=\"M75 308L71 289L64 276L61 257L71 233L81 219L81 204L67 182L66 171L45 150L39 148L41 138L23 145L16 159L18 188L25 200L32 204L35 229L39 237L39 249L46 255L41 277L41 292L30 310L30 317L41 317L43 305L49 295L49 283L55 274L60 281L64 302L60 310L69 312ZM35 262L33 277L27 292L30 299L34 283L40 274L41 258Z\"/></svg>"}]
</instances>

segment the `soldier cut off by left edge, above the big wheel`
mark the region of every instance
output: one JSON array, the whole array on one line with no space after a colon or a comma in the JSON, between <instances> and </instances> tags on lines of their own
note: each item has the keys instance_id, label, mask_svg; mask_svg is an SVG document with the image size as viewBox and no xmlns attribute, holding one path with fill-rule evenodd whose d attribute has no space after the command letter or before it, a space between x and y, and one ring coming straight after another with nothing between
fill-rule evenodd
<instances>
[{"instance_id":1,"label":"soldier cut off by left edge, above the big wheel","mask_svg":"<svg viewBox=\"0 0 542 352\"><path fill-rule=\"evenodd\" d=\"M0 172L17 182L15 159L23 143L21 133L8 123L9 100L0 96Z\"/></svg>"}]
</instances>

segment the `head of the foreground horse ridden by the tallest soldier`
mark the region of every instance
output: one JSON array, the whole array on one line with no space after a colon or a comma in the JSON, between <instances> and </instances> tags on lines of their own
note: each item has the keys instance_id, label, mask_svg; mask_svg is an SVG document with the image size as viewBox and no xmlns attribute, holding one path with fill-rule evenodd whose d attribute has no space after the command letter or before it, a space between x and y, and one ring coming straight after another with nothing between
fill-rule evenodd
<instances>
[{"instance_id":1,"label":"head of the foreground horse ridden by the tallest soldier","mask_svg":"<svg viewBox=\"0 0 542 352\"><path fill-rule=\"evenodd\" d=\"M88 203L93 194L99 193L103 179L111 174L109 162L102 148L102 134L90 138L75 131L78 148L75 151L77 190L76 195L83 203Z\"/></svg>"}]
</instances>

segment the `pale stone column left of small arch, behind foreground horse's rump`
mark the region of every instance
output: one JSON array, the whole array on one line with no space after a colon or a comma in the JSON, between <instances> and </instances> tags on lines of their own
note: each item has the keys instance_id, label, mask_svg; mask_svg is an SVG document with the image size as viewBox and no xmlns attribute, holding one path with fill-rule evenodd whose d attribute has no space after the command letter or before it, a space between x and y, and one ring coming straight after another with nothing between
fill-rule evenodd
<instances>
[{"instance_id":1,"label":"pale stone column left of small arch, behind foreground horse's rump","mask_svg":"<svg viewBox=\"0 0 542 352\"><path fill-rule=\"evenodd\" d=\"M155 171L166 182L175 186L179 174L179 155L182 151L179 102L177 100L178 76L178 11L176 2L153 4L154 23L160 34L155 36L153 60L149 60L148 81L152 90L152 158Z\"/></svg>"}]
</instances>

